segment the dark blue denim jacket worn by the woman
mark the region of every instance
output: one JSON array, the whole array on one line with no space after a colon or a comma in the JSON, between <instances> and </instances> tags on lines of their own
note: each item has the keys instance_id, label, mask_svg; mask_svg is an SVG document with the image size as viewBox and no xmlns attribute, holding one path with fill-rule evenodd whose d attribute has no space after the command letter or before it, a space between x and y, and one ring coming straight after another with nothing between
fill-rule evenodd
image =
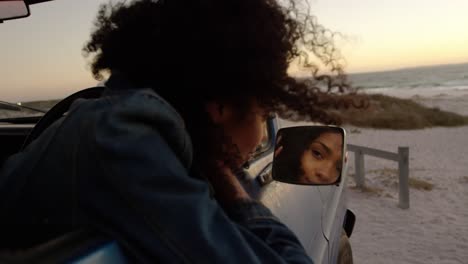
<instances>
[{"instance_id":1,"label":"dark blue denim jacket worn by the woman","mask_svg":"<svg viewBox=\"0 0 468 264\"><path fill-rule=\"evenodd\" d=\"M312 262L261 203L219 206L191 175L190 137L165 100L119 76L106 86L4 164L2 243L93 227L138 262Z\"/></svg>"}]
</instances>

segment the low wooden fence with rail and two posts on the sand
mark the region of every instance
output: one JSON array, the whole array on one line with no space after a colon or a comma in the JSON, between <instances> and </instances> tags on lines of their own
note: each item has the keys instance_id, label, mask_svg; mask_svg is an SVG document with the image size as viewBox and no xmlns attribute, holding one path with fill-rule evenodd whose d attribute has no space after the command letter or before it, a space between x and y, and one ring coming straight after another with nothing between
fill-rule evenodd
<instances>
[{"instance_id":1,"label":"low wooden fence with rail and two posts on the sand","mask_svg":"<svg viewBox=\"0 0 468 264\"><path fill-rule=\"evenodd\" d=\"M348 144L348 151L354 152L354 166L356 171L357 187L365 186L364 155L374 156L398 162L398 207L409 208L409 147L398 147L398 153Z\"/></svg>"}]
</instances>

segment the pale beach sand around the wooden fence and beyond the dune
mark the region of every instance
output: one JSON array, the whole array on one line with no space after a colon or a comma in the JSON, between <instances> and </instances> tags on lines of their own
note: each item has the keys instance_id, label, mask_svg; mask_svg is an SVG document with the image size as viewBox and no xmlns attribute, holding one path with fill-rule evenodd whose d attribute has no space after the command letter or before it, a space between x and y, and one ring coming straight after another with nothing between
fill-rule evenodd
<instances>
[{"instance_id":1,"label":"pale beach sand around the wooden fence and beyond the dune","mask_svg":"<svg viewBox=\"0 0 468 264\"><path fill-rule=\"evenodd\" d=\"M468 90L384 93L468 115ZM366 156L370 190L354 188L353 177L348 182L348 204L357 216L350 239L355 263L468 263L468 126L407 131L345 128L351 144L391 152L408 146L410 178L433 185L432 190L410 188L410 208L400 209L398 164Z\"/></svg>"}]
</instances>

